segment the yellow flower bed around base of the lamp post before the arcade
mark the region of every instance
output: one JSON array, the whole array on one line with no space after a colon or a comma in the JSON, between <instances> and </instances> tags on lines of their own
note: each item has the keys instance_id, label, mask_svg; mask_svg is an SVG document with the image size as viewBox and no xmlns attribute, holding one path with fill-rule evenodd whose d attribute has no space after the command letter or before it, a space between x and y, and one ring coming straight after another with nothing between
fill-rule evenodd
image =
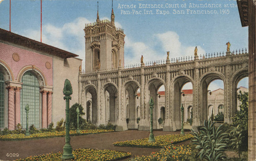
<instances>
[{"instance_id":1,"label":"yellow flower bed around base of the lamp post before the arcade","mask_svg":"<svg viewBox=\"0 0 256 161\"><path fill-rule=\"evenodd\" d=\"M115 146L131 146L131 147L141 147L141 148L162 148L165 145L176 144L193 138L190 133L186 135L163 135L155 137L156 142L148 142L148 138L143 138L139 140L127 140L122 142L113 143Z\"/></svg>"}]
</instances>

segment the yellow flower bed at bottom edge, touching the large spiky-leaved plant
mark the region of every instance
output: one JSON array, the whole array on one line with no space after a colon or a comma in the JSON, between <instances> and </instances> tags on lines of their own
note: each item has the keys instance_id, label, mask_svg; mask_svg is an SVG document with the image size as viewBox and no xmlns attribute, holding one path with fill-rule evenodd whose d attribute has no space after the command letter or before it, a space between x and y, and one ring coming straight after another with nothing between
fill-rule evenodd
<instances>
[{"instance_id":1,"label":"yellow flower bed at bottom edge, touching the large spiky-leaved plant","mask_svg":"<svg viewBox=\"0 0 256 161\"><path fill-rule=\"evenodd\" d=\"M191 147L189 145L184 146L165 146L159 152L152 152L148 156L136 156L129 160L184 160L189 161L193 156L191 156Z\"/></svg>"}]
</instances>

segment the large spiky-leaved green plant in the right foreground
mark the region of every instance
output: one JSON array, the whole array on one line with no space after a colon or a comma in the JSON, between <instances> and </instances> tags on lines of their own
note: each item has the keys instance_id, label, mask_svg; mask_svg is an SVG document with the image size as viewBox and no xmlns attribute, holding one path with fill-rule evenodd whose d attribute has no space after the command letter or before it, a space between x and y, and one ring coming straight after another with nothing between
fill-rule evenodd
<instances>
[{"instance_id":1,"label":"large spiky-leaved green plant in the right foreground","mask_svg":"<svg viewBox=\"0 0 256 161\"><path fill-rule=\"evenodd\" d=\"M192 129L195 140L193 144L197 145L198 154L201 159L210 161L225 159L224 151L227 147L227 133L221 130L222 125L218 128L210 120L204 121L204 126L199 128L199 132Z\"/></svg>"}]
</instances>

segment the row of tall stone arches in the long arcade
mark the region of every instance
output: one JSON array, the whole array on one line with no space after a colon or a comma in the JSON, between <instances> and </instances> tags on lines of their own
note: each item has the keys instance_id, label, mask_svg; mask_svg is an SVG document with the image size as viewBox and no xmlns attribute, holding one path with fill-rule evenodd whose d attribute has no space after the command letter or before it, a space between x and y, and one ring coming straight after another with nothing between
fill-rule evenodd
<instances>
[{"instance_id":1,"label":"row of tall stone arches in the long arcade","mask_svg":"<svg viewBox=\"0 0 256 161\"><path fill-rule=\"evenodd\" d=\"M193 118L200 119L200 123L203 120L208 119L209 109L207 104L207 88L212 81L216 79L221 79L224 84L224 100L226 103L223 105L229 105L227 103L226 97L229 97L229 92L232 94L232 98L229 99L233 104L229 105L231 110L230 113L235 112L237 100L237 85L238 82L248 76L247 69L238 70L231 76L231 79L228 80L222 73L217 71L210 71L199 78L198 84L195 84L193 78L188 75L178 75L169 83L169 87L167 87L165 81L159 77L153 77L149 79L145 85L140 85L135 80L126 81L121 87L112 82L105 83L102 87L97 88L92 84L88 84L83 87L82 90L82 101L88 101L88 93L92 98L92 122L97 123L106 123L112 122L116 123L118 120L124 120L125 118L129 118L128 128L136 128L136 119L138 118L138 114L140 115L140 119L148 120L149 119L149 110L148 110L148 101L150 97L153 98L155 104L158 103L157 96L158 90L161 86L164 86L165 89L165 104L163 105L164 110L162 109L153 109L153 120L158 120L159 117L164 117L164 119L170 119L174 122L176 129L181 127L181 113L180 113L180 105L181 105L181 89L183 86L190 82L193 87L193 105L198 106L199 108L193 108ZM227 83L228 82L228 83ZM232 82L232 85L230 84ZM228 84L228 85L227 85ZM231 85L227 89L227 86ZM143 86L143 89L141 89ZM140 91L140 96L138 99L138 90ZM235 91L235 92L234 92ZM196 97L197 98L196 98ZM90 100L90 99L89 99ZM93 100L95 103L93 103ZM139 103L138 103L139 102ZM169 104L168 104L169 103ZM138 104L140 112L138 111ZM235 105L234 105L235 104ZM84 104L85 105L85 104ZM170 107L168 109L168 106ZM97 108L98 107L98 108ZM167 107L167 108L166 108ZM159 107L161 108L161 107ZM226 107L225 107L226 108ZM227 107L228 108L228 107ZM226 109L225 109L226 110ZM225 111L226 112L226 111ZM223 110L224 113L224 110ZM127 115L129 114L129 115ZM231 116L231 114L230 114ZM230 119L226 114L226 119ZM104 120L104 121L102 121ZM226 120L227 121L227 120ZM157 121L154 121L153 128L159 128Z\"/></svg>"}]
</instances>

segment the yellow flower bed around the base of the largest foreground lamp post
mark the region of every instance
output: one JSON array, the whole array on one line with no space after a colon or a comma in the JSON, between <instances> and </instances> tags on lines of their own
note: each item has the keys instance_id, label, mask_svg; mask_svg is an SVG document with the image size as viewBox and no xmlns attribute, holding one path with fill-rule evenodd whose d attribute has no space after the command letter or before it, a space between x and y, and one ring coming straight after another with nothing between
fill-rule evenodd
<instances>
[{"instance_id":1,"label":"yellow flower bed around the base of the largest foreground lamp post","mask_svg":"<svg viewBox=\"0 0 256 161\"><path fill-rule=\"evenodd\" d=\"M73 150L74 159L72 160L116 160L127 158L131 153L119 152L115 150L99 150L99 149L76 149ZM61 160L62 152L42 154L38 156L29 156L25 159L18 160Z\"/></svg>"}]
</instances>

